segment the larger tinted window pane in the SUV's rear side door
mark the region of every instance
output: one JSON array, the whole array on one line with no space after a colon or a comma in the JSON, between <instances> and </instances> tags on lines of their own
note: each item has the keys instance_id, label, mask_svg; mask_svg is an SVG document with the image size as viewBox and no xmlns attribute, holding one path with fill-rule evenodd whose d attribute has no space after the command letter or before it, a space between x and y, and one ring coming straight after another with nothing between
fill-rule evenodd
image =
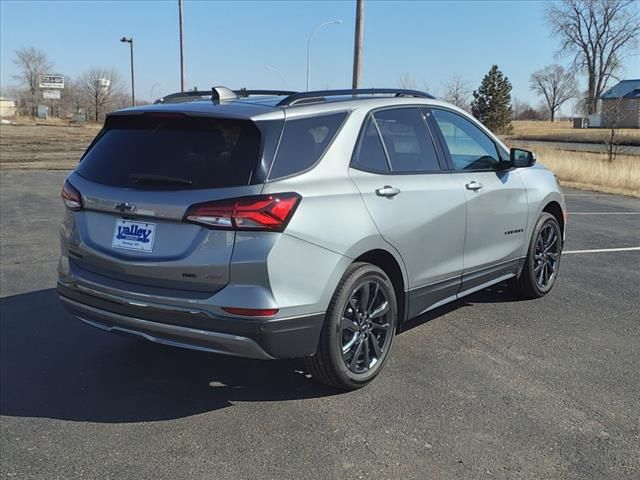
<instances>
[{"instance_id":1,"label":"larger tinted window pane in the SUV's rear side door","mask_svg":"<svg viewBox=\"0 0 640 480\"><path fill-rule=\"evenodd\" d=\"M374 115L394 172L439 170L431 135L417 108L382 110Z\"/></svg>"}]
</instances>

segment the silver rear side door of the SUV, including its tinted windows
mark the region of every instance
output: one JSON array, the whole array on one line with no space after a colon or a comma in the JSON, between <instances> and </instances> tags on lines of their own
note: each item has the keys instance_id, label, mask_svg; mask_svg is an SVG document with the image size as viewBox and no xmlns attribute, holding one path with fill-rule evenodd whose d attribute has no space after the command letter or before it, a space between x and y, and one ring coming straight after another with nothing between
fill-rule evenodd
<instances>
[{"instance_id":1,"label":"silver rear side door of the SUV, including its tinted windows","mask_svg":"<svg viewBox=\"0 0 640 480\"><path fill-rule=\"evenodd\" d=\"M464 191L443 173L419 108L370 115L350 175L382 237L404 260L409 315L452 297L460 286Z\"/></svg>"}]
</instances>

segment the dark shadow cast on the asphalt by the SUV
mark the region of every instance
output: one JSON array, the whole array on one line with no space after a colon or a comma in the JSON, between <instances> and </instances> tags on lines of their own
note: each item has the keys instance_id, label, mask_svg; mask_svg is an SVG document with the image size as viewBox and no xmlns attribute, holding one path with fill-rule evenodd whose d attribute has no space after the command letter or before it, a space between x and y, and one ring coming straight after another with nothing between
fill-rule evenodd
<instances>
[{"instance_id":1,"label":"dark shadow cast on the asphalt by the SUV","mask_svg":"<svg viewBox=\"0 0 640 480\"><path fill-rule=\"evenodd\" d=\"M494 287L401 332L472 303L513 300ZM142 422L339 393L314 383L300 360L227 357L102 332L69 315L55 289L0 299L0 415Z\"/></svg>"}]
</instances>

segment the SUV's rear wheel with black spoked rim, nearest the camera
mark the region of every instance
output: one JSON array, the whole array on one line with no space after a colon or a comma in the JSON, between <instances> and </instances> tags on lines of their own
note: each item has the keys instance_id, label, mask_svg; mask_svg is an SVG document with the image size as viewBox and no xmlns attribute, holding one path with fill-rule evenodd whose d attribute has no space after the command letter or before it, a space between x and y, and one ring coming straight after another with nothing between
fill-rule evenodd
<instances>
[{"instance_id":1,"label":"SUV's rear wheel with black spoked rim, nearest the camera","mask_svg":"<svg viewBox=\"0 0 640 480\"><path fill-rule=\"evenodd\" d=\"M305 359L308 371L317 382L341 390L367 385L384 366L397 324L389 277L375 265L352 264L333 294L316 354Z\"/></svg>"}]
</instances>

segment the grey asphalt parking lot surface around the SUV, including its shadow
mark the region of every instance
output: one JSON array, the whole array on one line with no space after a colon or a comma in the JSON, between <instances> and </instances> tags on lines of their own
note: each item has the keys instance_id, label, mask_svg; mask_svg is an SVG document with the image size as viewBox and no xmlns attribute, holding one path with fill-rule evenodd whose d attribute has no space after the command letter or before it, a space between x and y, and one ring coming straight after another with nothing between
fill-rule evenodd
<instances>
[{"instance_id":1,"label":"grey asphalt parking lot surface around the SUV, including its shadow","mask_svg":"<svg viewBox=\"0 0 640 480\"><path fill-rule=\"evenodd\" d=\"M56 298L64 172L1 176L4 478L640 478L640 251L568 253L411 322L369 387L92 329ZM640 200L567 190L565 250L640 246Z\"/></svg>"}]
</instances>

